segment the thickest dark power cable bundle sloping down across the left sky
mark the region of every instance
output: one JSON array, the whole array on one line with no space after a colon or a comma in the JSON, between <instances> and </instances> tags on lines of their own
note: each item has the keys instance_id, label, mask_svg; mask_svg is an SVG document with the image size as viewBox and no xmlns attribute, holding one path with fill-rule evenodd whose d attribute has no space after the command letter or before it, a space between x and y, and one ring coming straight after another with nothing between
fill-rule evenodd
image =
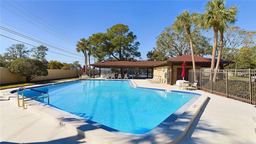
<instances>
[{"instance_id":1,"label":"thickest dark power cable bundle sloping down across the left sky","mask_svg":"<svg viewBox=\"0 0 256 144\"><path fill-rule=\"evenodd\" d=\"M74 55L76 55L76 56L83 57L83 56L81 56L81 55L78 55L78 54L75 54L75 53L72 53L72 52L63 50L63 49L61 49L61 48L57 48L57 47L52 46L52 45L50 45L50 44L46 44L46 43L41 42L41 41L39 41L39 40L36 40L36 39L34 39L34 38L30 38L30 37L25 36L25 35L23 35L23 34L20 34L20 33L18 33L18 32L14 32L14 31L9 30L9 29L7 29L7 28L4 28L4 27L2 27L2 26L0 26L0 29L5 30L5 31L7 31L7 32L10 32L10 33L12 33L12 34L16 34L16 35L21 36L21 37L23 37L23 38L27 38L27 39L32 40L32 41L34 41L34 42L38 42L38 43L40 43L40 44L44 44L44 45L49 46L49 47L51 47L51 48L55 48L55 49L57 49L57 50L61 50L61 51L63 51L63 52L67 52L67 53L69 53L69 54L74 54Z\"/></svg>"}]
</instances>

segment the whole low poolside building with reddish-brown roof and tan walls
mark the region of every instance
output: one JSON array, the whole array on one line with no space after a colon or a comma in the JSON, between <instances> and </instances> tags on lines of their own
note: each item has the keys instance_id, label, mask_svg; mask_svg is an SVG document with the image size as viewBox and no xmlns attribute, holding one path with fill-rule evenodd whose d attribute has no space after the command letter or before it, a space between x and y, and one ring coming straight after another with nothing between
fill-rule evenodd
<instances>
[{"instance_id":1,"label":"whole low poolside building with reddish-brown roof and tan walls","mask_svg":"<svg viewBox=\"0 0 256 144\"><path fill-rule=\"evenodd\" d=\"M202 56L194 56L196 63L196 70L200 70L201 68L210 68L211 66L211 58L205 58ZM95 64L90 64L94 68L120 68L122 73L122 78L125 73L126 68L143 68L147 70L146 78L153 76L161 76L162 83L174 84L176 80L181 80L181 72L182 72L182 63L186 62L186 78L185 80L192 80L189 78L188 73L189 70L192 70L192 56L191 55L183 55L176 58L172 58L165 61L106 61L106 62L98 62ZM215 60L216 65L217 60ZM223 69L228 64L234 62L220 60L220 69ZM148 75L148 71L151 71L151 76Z\"/></svg>"}]
</instances>

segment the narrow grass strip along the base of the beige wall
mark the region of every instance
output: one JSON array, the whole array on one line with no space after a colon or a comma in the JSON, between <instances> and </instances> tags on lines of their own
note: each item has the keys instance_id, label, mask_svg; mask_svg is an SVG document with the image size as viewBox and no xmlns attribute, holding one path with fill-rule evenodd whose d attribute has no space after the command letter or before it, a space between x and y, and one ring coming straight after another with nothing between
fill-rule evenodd
<instances>
[{"instance_id":1,"label":"narrow grass strip along the base of the beige wall","mask_svg":"<svg viewBox=\"0 0 256 144\"><path fill-rule=\"evenodd\" d=\"M79 78L66 78L66 79L54 79L54 80L39 80L39 81L32 81L32 82L18 82L18 83L10 83L10 84L0 84L0 90L4 90L7 88L17 88L17 87L22 87L22 86L31 86L31 85L36 85L36 84L46 84L50 82L60 82L63 80L76 80Z\"/></svg>"}]
</instances>

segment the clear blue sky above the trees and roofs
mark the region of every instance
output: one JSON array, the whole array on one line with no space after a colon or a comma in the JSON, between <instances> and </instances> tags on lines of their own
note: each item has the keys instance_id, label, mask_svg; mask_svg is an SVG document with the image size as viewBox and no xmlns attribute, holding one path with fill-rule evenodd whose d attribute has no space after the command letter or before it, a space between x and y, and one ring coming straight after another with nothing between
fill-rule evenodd
<instances>
[{"instance_id":1,"label":"clear blue sky above the trees and roofs","mask_svg":"<svg viewBox=\"0 0 256 144\"><path fill-rule=\"evenodd\" d=\"M203 13L205 3L206 0L0 0L0 26L62 49L47 46L51 51L46 55L48 61L80 61L83 65L83 54L76 52L76 42L94 33L106 32L107 28L121 23L128 25L137 36L136 41L140 42L138 51L141 58L146 60L147 52L156 47L156 37L173 23L180 12L196 10ZM236 4L239 9L238 21L234 26L256 31L256 0L227 0L227 8L231 4ZM16 40L27 43L28 49L42 45L2 29L0 34L3 35L0 36L1 54L12 44L20 43Z\"/></svg>"}]
</instances>

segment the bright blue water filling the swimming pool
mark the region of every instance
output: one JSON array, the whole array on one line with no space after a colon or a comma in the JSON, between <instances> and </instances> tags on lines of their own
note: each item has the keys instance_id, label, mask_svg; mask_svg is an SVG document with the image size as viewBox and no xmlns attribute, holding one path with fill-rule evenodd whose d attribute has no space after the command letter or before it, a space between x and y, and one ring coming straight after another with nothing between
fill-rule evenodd
<instances>
[{"instance_id":1,"label":"bright blue water filling the swimming pool","mask_svg":"<svg viewBox=\"0 0 256 144\"><path fill-rule=\"evenodd\" d=\"M34 89L48 92L51 106L132 134L149 132L194 97L133 88L129 82L77 80Z\"/></svg>"}]
</instances>

